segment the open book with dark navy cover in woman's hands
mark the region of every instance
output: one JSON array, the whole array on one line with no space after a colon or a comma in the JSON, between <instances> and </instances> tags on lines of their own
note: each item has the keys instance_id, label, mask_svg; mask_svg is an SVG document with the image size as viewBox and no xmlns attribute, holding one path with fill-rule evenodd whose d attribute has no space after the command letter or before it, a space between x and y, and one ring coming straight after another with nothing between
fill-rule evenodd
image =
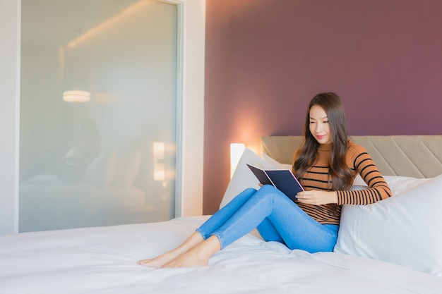
<instances>
[{"instance_id":1,"label":"open book with dark navy cover in woman's hands","mask_svg":"<svg viewBox=\"0 0 442 294\"><path fill-rule=\"evenodd\" d=\"M277 190L283 192L291 200L297 200L296 195L304 191L299 180L289 169L259 169L256 166L247 164L249 169L263 185L273 185Z\"/></svg>"}]
</instances>

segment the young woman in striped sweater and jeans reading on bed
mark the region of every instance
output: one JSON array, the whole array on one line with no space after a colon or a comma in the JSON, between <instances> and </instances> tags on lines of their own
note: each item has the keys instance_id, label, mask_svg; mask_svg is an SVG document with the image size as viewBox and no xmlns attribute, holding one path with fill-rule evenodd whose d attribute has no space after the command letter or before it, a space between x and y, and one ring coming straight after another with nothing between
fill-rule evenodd
<instances>
[{"instance_id":1,"label":"young woman in striped sweater and jeans reading on bed","mask_svg":"<svg viewBox=\"0 0 442 294\"><path fill-rule=\"evenodd\" d=\"M246 189L196 229L179 247L138 264L147 267L208 265L213 253L257 228L266 241L308 252L333 251L342 204L370 204L391 196L364 147L348 140L340 97L317 94L309 104L304 144L294 174L305 191L292 202L271 185ZM350 190L359 173L369 188Z\"/></svg>"}]
</instances>

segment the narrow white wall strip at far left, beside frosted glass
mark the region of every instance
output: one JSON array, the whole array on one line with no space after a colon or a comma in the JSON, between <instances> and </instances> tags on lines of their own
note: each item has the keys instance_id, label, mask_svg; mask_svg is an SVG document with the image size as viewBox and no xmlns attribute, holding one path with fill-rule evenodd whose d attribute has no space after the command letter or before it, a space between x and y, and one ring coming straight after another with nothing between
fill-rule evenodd
<instances>
[{"instance_id":1,"label":"narrow white wall strip at far left, beside frosted glass","mask_svg":"<svg viewBox=\"0 0 442 294\"><path fill-rule=\"evenodd\" d=\"M13 0L0 0L0 234L17 228L16 203L18 174L18 5Z\"/></svg>"}]
</instances>

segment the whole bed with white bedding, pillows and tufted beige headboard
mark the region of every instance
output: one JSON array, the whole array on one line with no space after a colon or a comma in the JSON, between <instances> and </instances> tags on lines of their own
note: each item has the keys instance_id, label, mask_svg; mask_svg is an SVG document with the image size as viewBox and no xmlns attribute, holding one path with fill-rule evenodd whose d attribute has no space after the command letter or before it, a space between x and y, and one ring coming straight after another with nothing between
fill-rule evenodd
<instances>
[{"instance_id":1,"label":"whole bed with white bedding, pillows and tufted beige headboard","mask_svg":"<svg viewBox=\"0 0 442 294\"><path fill-rule=\"evenodd\" d=\"M208 267L136 264L179 245L208 216L20 233L0 237L0 293L442 293L442 135L352 140L369 150L394 196L343 207L335 252L288 250L252 231ZM221 206L257 184L244 162L284 167L299 142L263 137L261 155L246 149Z\"/></svg>"}]
</instances>

